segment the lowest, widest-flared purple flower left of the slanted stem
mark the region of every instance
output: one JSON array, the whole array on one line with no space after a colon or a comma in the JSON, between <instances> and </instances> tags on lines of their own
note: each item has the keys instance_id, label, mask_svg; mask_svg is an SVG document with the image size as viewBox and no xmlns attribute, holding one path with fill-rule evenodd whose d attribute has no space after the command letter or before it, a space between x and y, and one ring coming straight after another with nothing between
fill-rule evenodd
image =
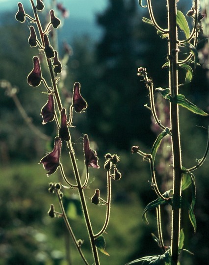
<instances>
[{"instance_id":1,"label":"lowest, widest-flared purple flower left of the slanted stem","mask_svg":"<svg viewBox=\"0 0 209 265\"><path fill-rule=\"evenodd\" d=\"M54 148L52 152L41 159L39 164L43 163L44 169L48 170L47 176L52 175L60 166L60 151L62 142L59 137L54 139Z\"/></svg>"}]
</instances>

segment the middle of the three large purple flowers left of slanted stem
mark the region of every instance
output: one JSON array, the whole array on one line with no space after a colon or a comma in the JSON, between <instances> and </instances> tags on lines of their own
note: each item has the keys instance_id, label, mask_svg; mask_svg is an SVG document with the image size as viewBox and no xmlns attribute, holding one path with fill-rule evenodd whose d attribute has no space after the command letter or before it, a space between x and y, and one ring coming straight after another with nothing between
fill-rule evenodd
<instances>
[{"instance_id":1,"label":"middle of the three large purple flowers left of slanted stem","mask_svg":"<svg viewBox=\"0 0 209 265\"><path fill-rule=\"evenodd\" d=\"M54 120L54 100L53 100L53 95L50 94L48 96L48 101L47 103L42 107L41 109L41 116L43 118L43 123L46 124L47 122L51 122Z\"/></svg>"}]
</instances>

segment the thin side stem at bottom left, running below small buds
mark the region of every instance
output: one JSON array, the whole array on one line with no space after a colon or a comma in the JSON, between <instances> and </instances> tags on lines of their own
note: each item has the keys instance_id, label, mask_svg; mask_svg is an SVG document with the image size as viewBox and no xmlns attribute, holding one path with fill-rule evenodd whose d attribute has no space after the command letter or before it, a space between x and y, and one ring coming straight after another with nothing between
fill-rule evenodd
<instances>
[{"instance_id":1,"label":"thin side stem at bottom left, running below small buds","mask_svg":"<svg viewBox=\"0 0 209 265\"><path fill-rule=\"evenodd\" d=\"M57 197L58 197L58 199L59 199L59 205L60 205L60 208L61 208L61 211L62 211L62 216L63 216L63 218L64 218L65 224L66 224L67 229L68 229L68 231L69 231L69 233L70 233L70 235L71 235L71 237L72 237L72 239L73 239L73 241L74 241L74 243L75 243L75 245L76 245L76 247L77 247L77 249L78 249L78 252L79 252L79 254L80 254L80 257L82 258L83 262L84 262L86 265L89 265L88 262L87 262L87 260L85 259L84 255L83 255L83 252L82 252L82 250L81 250L81 246L80 246L80 244L78 243L78 240L76 239L76 237L75 237L75 235L74 235L74 233L73 233L73 230L72 230L71 225L70 225L70 223L69 223L69 221L68 221L68 217L67 217L67 215L66 215L66 212L65 212L65 209L64 209L64 206L63 206L63 203L62 203L62 199L60 198L60 195L59 195L59 193L57 192L57 190L56 190L56 194L57 194Z\"/></svg>"}]
</instances>

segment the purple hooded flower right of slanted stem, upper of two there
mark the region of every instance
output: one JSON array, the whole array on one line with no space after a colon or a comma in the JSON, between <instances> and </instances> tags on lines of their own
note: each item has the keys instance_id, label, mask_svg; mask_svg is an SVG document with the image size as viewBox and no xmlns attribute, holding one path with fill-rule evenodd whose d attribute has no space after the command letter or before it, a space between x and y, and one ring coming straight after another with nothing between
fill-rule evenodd
<instances>
[{"instance_id":1,"label":"purple hooded flower right of slanted stem, upper of two there","mask_svg":"<svg viewBox=\"0 0 209 265\"><path fill-rule=\"evenodd\" d=\"M76 82L73 88L73 106L75 111L80 113L87 108L87 102L80 94L80 83Z\"/></svg>"}]
</instances>

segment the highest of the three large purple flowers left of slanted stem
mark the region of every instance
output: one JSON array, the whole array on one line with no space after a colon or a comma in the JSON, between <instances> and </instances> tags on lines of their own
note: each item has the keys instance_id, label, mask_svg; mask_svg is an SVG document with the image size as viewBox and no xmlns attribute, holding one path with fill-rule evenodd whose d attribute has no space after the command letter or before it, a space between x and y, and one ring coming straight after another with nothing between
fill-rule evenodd
<instances>
[{"instance_id":1,"label":"highest of the three large purple flowers left of slanted stem","mask_svg":"<svg viewBox=\"0 0 209 265\"><path fill-rule=\"evenodd\" d=\"M42 80L41 75L41 66L39 62L39 58L37 56L33 57L33 70L27 76L27 82L29 85L36 87L40 85Z\"/></svg>"}]
</instances>

